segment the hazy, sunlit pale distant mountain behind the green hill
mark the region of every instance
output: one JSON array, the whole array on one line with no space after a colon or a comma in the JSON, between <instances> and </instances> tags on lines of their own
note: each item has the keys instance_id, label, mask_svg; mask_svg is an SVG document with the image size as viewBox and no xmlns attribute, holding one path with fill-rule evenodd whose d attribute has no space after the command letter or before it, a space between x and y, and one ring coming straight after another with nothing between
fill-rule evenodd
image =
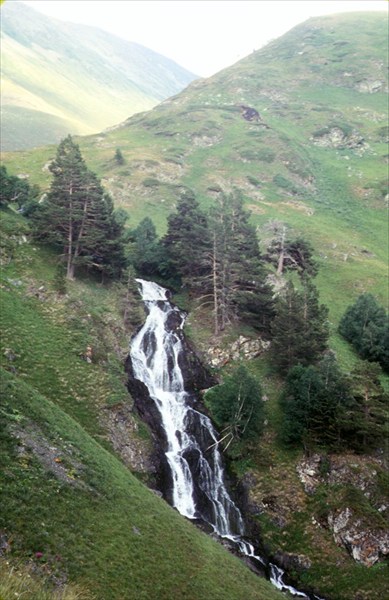
<instances>
[{"instance_id":1,"label":"hazy, sunlit pale distant mountain behind the green hill","mask_svg":"<svg viewBox=\"0 0 389 600\"><path fill-rule=\"evenodd\" d=\"M196 77L139 44L19 2L2 4L1 29L3 150L96 133Z\"/></svg>"}]
</instances>

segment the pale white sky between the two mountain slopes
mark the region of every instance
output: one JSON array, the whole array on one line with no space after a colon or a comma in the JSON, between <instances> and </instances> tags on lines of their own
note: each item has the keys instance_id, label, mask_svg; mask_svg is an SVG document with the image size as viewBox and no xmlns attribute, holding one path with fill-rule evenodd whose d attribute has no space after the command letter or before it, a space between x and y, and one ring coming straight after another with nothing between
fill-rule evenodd
<instances>
[{"instance_id":1,"label":"pale white sky between the two mountain slopes","mask_svg":"<svg viewBox=\"0 0 389 600\"><path fill-rule=\"evenodd\" d=\"M93 25L138 42L203 77L309 17L388 11L387 0L24 0L24 4L62 21Z\"/></svg>"}]
</instances>

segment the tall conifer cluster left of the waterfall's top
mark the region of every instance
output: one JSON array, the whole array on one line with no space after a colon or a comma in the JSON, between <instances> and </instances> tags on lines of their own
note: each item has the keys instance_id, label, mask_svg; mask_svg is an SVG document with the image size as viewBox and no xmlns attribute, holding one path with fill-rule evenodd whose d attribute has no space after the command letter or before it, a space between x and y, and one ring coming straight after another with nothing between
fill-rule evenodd
<instances>
[{"instance_id":1,"label":"tall conifer cluster left of the waterfall's top","mask_svg":"<svg viewBox=\"0 0 389 600\"><path fill-rule=\"evenodd\" d=\"M118 276L124 265L123 222L71 136L59 144L50 171L50 191L32 215L36 237L62 251L68 279L79 266L102 277Z\"/></svg>"}]
</instances>

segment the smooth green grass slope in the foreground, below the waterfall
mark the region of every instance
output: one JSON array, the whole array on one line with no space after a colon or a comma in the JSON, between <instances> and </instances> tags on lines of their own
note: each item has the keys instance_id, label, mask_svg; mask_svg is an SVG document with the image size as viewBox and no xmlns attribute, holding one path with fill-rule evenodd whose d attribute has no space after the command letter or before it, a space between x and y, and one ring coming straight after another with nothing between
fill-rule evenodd
<instances>
[{"instance_id":1,"label":"smooth green grass slope in the foreground, below the waterfall","mask_svg":"<svg viewBox=\"0 0 389 600\"><path fill-rule=\"evenodd\" d=\"M1 387L1 520L16 555L101 600L281 597L29 384L3 372Z\"/></svg>"}]
</instances>

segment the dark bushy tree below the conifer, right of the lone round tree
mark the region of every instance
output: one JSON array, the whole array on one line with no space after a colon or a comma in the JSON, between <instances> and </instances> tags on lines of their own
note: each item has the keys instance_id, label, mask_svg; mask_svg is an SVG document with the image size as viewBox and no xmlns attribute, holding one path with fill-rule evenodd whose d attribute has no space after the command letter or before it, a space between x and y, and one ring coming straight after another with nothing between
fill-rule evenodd
<instances>
[{"instance_id":1,"label":"dark bushy tree below the conifer, right of the lone round tree","mask_svg":"<svg viewBox=\"0 0 389 600\"><path fill-rule=\"evenodd\" d=\"M285 419L282 439L288 444L339 448L344 444L344 416L352 405L350 390L333 355L317 367L293 367L281 398Z\"/></svg>"}]
</instances>

